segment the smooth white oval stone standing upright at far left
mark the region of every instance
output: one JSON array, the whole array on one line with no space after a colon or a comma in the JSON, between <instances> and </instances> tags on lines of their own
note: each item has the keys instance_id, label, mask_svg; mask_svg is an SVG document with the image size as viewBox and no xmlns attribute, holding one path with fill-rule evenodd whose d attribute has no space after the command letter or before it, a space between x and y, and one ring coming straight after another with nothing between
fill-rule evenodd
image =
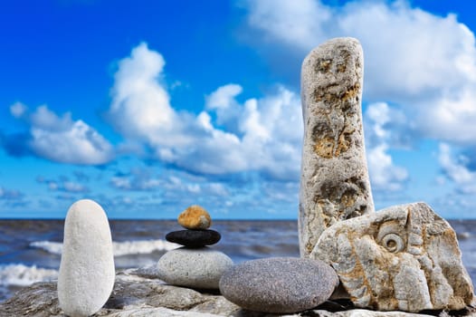
<instances>
[{"instance_id":1,"label":"smooth white oval stone standing upright at far left","mask_svg":"<svg viewBox=\"0 0 476 317\"><path fill-rule=\"evenodd\" d=\"M64 223L58 299L71 317L98 312L109 299L115 279L112 238L106 213L83 199L71 205Z\"/></svg>"}]
</instances>

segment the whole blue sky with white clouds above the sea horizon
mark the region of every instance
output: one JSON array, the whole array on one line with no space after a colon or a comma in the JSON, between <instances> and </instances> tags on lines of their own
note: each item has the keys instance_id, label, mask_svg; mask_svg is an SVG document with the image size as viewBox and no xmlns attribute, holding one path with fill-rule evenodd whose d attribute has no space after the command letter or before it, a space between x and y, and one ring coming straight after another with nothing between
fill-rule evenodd
<instances>
[{"instance_id":1,"label":"whole blue sky with white clouds above the sea horizon","mask_svg":"<svg viewBox=\"0 0 476 317\"><path fill-rule=\"evenodd\" d=\"M0 217L296 218L300 63L356 37L377 208L476 213L468 1L9 1L0 7Z\"/></svg>"}]
</instances>

